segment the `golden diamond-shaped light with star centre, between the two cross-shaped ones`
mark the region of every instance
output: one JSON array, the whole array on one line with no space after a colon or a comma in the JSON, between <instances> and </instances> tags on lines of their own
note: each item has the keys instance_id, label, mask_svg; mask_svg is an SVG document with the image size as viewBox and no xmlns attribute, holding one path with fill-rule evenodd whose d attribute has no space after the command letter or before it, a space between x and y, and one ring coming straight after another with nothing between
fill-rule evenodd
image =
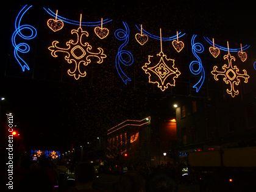
<instances>
[{"instance_id":1,"label":"golden diamond-shaped light with star centre, between the two cross-shaped ones","mask_svg":"<svg viewBox=\"0 0 256 192\"><path fill-rule=\"evenodd\" d=\"M144 72L149 75L149 83L157 84L162 91L170 86L175 86L175 78L179 77L180 71L174 67L174 60L167 59L162 49L162 31L160 28L160 46L161 51L157 54L159 58L155 65L151 63L152 55L148 55L148 63L142 67Z\"/></svg>"}]
</instances>

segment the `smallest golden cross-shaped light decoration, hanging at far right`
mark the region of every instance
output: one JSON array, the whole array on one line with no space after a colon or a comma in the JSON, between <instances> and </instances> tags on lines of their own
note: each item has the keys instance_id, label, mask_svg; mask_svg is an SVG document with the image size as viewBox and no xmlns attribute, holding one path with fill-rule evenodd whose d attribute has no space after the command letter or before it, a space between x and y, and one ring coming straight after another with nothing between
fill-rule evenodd
<instances>
[{"instance_id":1,"label":"smallest golden cross-shaped light decoration, hanging at far right","mask_svg":"<svg viewBox=\"0 0 256 192\"><path fill-rule=\"evenodd\" d=\"M227 42L227 49L229 50L229 42ZM224 55L224 60L227 60L228 64L224 64L221 67L223 70L218 71L218 66L213 66L213 71L211 73L213 74L215 80L219 80L218 76L223 76L223 81L230 86L230 88L227 88L227 93L234 98L237 94L239 94L239 91L236 90L235 85L239 85L241 79L244 79L244 83L247 83L249 75L247 75L247 71L245 69L243 69L243 73L239 73L237 66L232 64L232 61L235 62L235 57L230 55L230 52L228 52L227 55Z\"/></svg>"}]
</instances>

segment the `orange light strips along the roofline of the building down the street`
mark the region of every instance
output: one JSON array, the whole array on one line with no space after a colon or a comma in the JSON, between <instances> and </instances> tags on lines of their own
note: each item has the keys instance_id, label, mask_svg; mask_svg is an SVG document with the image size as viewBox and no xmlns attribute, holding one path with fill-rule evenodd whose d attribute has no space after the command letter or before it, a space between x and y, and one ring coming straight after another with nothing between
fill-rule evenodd
<instances>
[{"instance_id":1,"label":"orange light strips along the roofline of the building down the street","mask_svg":"<svg viewBox=\"0 0 256 192\"><path fill-rule=\"evenodd\" d=\"M117 130L123 129L123 127L126 126L145 126L151 123L151 117L148 116L147 118L141 119L141 120L131 120L131 119L127 119L126 121L123 121L122 123L119 123L117 126L112 127L111 129L107 130L107 135L116 132ZM126 133L124 133L124 137L127 140L127 135Z\"/></svg>"}]
</instances>

